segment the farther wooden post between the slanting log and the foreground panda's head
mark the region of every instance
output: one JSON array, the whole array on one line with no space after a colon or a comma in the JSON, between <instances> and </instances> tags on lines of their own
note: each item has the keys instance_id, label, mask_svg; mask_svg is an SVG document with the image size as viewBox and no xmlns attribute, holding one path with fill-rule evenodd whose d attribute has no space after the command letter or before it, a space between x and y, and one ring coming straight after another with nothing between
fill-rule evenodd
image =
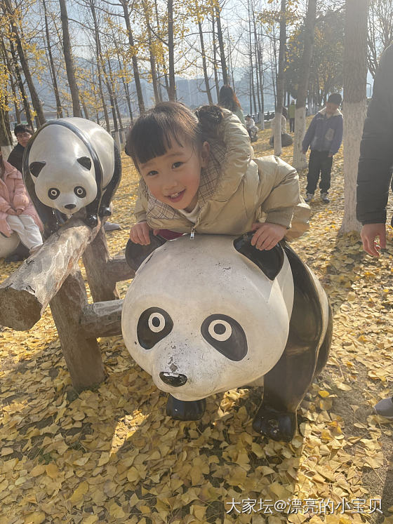
<instances>
[{"instance_id":1,"label":"farther wooden post between the slanting log and the foreground panda's head","mask_svg":"<svg viewBox=\"0 0 393 524\"><path fill-rule=\"evenodd\" d=\"M86 246L82 260L93 301L118 300L120 297L116 290L116 280L106 271L110 257L103 227L98 231L95 239Z\"/></svg>"}]
</instances>

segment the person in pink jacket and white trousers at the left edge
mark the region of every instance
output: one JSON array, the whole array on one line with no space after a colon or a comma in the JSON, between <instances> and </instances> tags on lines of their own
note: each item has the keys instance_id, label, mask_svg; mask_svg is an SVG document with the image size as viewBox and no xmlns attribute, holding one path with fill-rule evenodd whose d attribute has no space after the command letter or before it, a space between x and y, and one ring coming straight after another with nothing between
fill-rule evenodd
<instances>
[{"instance_id":1,"label":"person in pink jacket and white trousers at the left edge","mask_svg":"<svg viewBox=\"0 0 393 524\"><path fill-rule=\"evenodd\" d=\"M43 226L18 169L6 162L0 151L0 233L18 234L30 254L42 246Z\"/></svg>"}]
</instances>

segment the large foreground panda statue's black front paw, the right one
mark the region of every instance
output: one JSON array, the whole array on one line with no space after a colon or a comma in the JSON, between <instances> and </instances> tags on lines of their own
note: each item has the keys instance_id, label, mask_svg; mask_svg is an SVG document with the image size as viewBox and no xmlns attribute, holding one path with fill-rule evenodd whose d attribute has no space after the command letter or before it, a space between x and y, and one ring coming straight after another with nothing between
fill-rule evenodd
<instances>
[{"instance_id":1,"label":"large foreground panda statue's black front paw, the right one","mask_svg":"<svg viewBox=\"0 0 393 524\"><path fill-rule=\"evenodd\" d=\"M277 411L263 404L253 420L253 430L274 441L291 442L297 429L296 413Z\"/></svg>"}]
</instances>

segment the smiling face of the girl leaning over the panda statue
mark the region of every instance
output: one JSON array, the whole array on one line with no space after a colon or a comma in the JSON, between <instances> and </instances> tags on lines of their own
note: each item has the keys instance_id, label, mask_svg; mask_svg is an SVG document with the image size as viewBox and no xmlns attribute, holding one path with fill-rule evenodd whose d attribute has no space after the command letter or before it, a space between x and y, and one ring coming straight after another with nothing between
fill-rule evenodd
<instances>
[{"instance_id":1,"label":"smiling face of the girl leaning over the panda statue","mask_svg":"<svg viewBox=\"0 0 393 524\"><path fill-rule=\"evenodd\" d=\"M174 209L192 211L198 202L201 168L207 166L209 145L204 142L198 151L193 145L171 143L165 154L138 163L138 168L154 198Z\"/></svg>"}]
</instances>

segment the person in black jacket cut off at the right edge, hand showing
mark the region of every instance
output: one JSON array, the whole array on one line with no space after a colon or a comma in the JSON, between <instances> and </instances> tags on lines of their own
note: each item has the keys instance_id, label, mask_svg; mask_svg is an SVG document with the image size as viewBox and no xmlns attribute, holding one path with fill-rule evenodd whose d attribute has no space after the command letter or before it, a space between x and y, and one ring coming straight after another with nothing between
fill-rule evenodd
<instances>
[{"instance_id":1,"label":"person in black jacket cut off at the right edge, hand showing","mask_svg":"<svg viewBox=\"0 0 393 524\"><path fill-rule=\"evenodd\" d=\"M357 174L357 220L363 224L363 248L373 257L380 255L380 248L386 248L386 206L393 168L392 100L393 45L385 49L375 75ZM393 421L393 398L383 398L374 410Z\"/></svg>"}]
</instances>

